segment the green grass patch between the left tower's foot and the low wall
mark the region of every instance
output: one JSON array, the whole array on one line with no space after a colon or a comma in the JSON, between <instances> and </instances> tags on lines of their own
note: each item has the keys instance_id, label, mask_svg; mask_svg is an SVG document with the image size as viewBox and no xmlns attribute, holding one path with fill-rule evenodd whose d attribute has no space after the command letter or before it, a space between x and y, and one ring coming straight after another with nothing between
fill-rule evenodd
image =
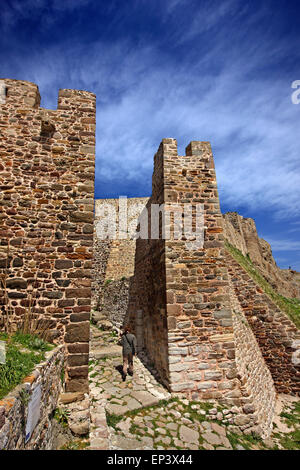
<instances>
[{"instance_id":1,"label":"green grass patch between the left tower's foot and the low wall","mask_svg":"<svg viewBox=\"0 0 300 470\"><path fill-rule=\"evenodd\" d=\"M1 333L0 339L6 341L6 362L0 364L0 399L29 375L36 364L45 359L45 351L53 348L35 335ZM39 340L39 341L37 341ZM20 349L26 348L25 351Z\"/></svg>"}]
</instances>

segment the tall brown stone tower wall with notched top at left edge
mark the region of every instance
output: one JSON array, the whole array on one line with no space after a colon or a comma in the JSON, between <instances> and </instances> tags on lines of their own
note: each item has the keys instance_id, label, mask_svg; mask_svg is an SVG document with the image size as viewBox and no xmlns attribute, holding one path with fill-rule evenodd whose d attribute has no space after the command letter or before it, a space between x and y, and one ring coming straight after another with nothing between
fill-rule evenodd
<instances>
[{"instance_id":1,"label":"tall brown stone tower wall with notched top at left edge","mask_svg":"<svg viewBox=\"0 0 300 470\"><path fill-rule=\"evenodd\" d=\"M57 110L46 110L35 84L0 84L0 272L10 321L22 322L31 291L49 337L66 343L66 390L87 391L96 98L60 90ZM3 325L3 290L0 305Z\"/></svg>"}]
</instances>

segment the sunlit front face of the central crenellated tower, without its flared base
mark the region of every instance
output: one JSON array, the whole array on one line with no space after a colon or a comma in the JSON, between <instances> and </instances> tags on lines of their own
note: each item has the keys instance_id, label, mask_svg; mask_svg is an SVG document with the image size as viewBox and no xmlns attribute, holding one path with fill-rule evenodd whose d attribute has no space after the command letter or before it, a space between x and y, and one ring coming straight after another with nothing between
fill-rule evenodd
<instances>
[{"instance_id":1,"label":"sunlit front face of the central crenellated tower, without its flared base","mask_svg":"<svg viewBox=\"0 0 300 470\"><path fill-rule=\"evenodd\" d=\"M171 150L170 150L171 148ZM174 149L174 150L173 150ZM191 142L178 156L176 141L160 150L164 162L164 200L196 207L203 240L165 241L166 314L169 325L170 384L199 398L238 398L228 275L214 161L208 142ZM186 217L184 217L184 223ZM200 232L200 233L199 233ZM202 233L201 233L202 232Z\"/></svg>"}]
</instances>

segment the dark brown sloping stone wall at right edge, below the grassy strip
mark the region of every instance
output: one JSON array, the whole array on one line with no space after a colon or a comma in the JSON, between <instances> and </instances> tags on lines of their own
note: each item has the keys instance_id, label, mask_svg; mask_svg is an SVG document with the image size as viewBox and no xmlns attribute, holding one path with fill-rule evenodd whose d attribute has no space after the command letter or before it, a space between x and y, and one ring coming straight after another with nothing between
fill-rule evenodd
<instances>
[{"instance_id":1,"label":"dark brown sloping stone wall at right edge, below the grassy strip","mask_svg":"<svg viewBox=\"0 0 300 470\"><path fill-rule=\"evenodd\" d=\"M259 344L277 392L299 395L299 330L229 253L226 258L235 296Z\"/></svg>"}]
</instances>

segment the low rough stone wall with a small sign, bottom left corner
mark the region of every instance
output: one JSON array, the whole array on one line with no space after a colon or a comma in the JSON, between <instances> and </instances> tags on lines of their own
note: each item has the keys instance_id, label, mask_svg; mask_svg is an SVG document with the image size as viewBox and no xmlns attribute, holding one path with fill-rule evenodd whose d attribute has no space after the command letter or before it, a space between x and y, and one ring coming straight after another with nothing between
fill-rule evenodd
<instances>
[{"instance_id":1,"label":"low rough stone wall with a small sign, bottom left corner","mask_svg":"<svg viewBox=\"0 0 300 470\"><path fill-rule=\"evenodd\" d=\"M46 353L45 362L39 364L23 384L0 400L0 450L53 449L53 412L62 389L64 349L61 345ZM37 387L41 388L39 420L25 443L28 404Z\"/></svg>"}]
</instances>

